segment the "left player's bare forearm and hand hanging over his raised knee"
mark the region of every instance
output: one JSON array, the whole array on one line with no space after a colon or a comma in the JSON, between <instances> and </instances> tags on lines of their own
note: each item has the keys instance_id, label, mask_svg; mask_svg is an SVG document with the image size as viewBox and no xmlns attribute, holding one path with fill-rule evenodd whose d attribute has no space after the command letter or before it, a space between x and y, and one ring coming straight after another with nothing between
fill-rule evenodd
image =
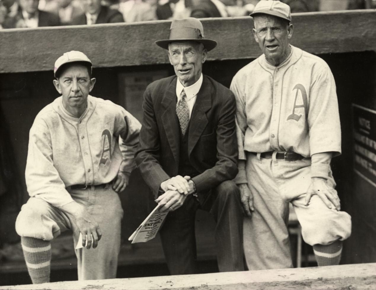
<instances>
[{"instance_id":1,"label":"left player's bare forearm and hand hanging over his raised knee","mask_svg":"<svg viewBox=\"0 0 376 290\"><path fill-rule=\"evenodd\" d=\"M96 248L98 241L102 237L102 231L96 220L88 213L85 207L77 202L70 202L62 206L61 209L65 213L73 216L73 220L82 234L82 246L86 246L87 240L87 249L90 249L91 245L93 248Z\"/></svg>"}]
</instances>

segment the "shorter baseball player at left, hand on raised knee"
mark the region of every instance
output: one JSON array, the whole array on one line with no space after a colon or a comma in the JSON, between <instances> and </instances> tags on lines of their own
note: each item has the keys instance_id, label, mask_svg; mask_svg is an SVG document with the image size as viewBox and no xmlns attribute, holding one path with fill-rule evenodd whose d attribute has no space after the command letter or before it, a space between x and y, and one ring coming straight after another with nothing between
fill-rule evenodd
<instances>
[{"instance_id":1,"label":"shorter baseball player at left, hand on raised knee","mask_svg":"<svg viewBox=\"0 0 376 290\"><path fill-rule=\"evenodd\" d=\"M30 198L16 231L33 283L49 282L50 241L67 229L75 246L82 235L84 247L75 250L79 280L116 277L123 217L118 192L135 168L141 125L121 106L89 96L96 82L91 65L78 51L56 60L53 84L62 96L30 129Z\"/></svg>"}]
</instances>

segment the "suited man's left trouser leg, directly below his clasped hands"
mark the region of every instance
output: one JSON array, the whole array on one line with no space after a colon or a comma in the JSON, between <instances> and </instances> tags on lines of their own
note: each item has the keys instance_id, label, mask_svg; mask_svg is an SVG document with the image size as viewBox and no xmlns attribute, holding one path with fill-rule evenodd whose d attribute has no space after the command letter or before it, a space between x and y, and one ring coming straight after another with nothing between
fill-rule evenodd
<instances>
[{"instance_id":1,"label":"suited man's left trouser leg, directly below his clasped hands","mask_svg":"<svg viewBox=\"0 0 376 290\"><path fill-rule=\"evenodd\" d=\"M171 275L197 272L194 221L198 206L196 197L190 194L180 208L167 214L160 230L162 247Z\"/></svg>"}]
</instances>

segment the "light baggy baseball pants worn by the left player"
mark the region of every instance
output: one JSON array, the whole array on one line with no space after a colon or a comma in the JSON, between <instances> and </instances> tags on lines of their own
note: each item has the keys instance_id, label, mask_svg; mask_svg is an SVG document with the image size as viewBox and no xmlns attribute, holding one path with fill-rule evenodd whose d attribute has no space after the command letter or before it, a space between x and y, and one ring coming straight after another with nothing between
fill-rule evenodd
<instances>
[{"instance_id":1,"label":"light baggy baseball pants worn by the left player","mask_svg":"<svg viewBox=\"0 0 376 290\"><path fill-rule=\"evenodd\" d=\"M111 185L105 188L88 187L70 190L74 201L85 206L99 224L102 238L93 249L75 250L79 280L116 278L123 209L118 194ZM30 197L16 220L16 231L21 237L50 241L61 232L71 229L76 246L79 229L72 217L38 197Z\"/></svg>"}]
</instances>

